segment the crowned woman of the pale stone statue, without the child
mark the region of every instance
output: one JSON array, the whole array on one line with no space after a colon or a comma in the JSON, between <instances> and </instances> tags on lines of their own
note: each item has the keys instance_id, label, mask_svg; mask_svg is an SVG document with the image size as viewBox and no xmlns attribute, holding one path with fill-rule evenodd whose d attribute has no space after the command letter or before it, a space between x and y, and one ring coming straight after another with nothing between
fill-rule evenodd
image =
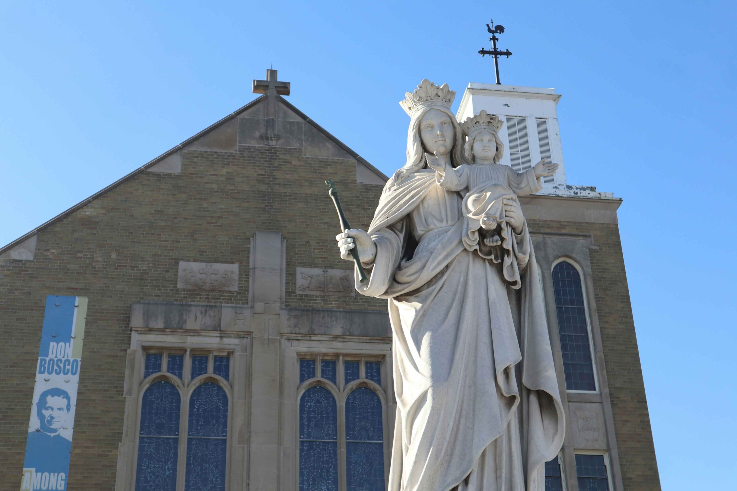
<instances>
[{"instance_id":1,"label":"crowned woman of the pale stone statue, without the child","mask_svg":"<svg viewBox=\"0 0 737 491\"><path fill-rule=\"evenodd\" d=\"M357 291L388 299L397 396L389 489L542 491L564 417L537 264L515 199L504 207L519 281L464 247L461 195L427 167L430 155L464 163L454 97L428 80L406 94L407 163L386 183L368 233L337 238L341 257L357 247L367 269Z\"/></svg>"}]
</instances>

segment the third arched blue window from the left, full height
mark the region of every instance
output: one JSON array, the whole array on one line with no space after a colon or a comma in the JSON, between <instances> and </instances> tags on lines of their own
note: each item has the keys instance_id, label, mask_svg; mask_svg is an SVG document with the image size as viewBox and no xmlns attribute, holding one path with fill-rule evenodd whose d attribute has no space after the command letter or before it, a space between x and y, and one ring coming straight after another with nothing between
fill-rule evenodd
<instances>
[{"instance_id":1,"label":"third arched blue window from the left, full height","mask_svg":"<svg viewBox=\"0 0 737 491\"><path fill-rule=\"evenodd\" d=\"M299 400L299 489L338 490L338 409L321 386Z\"/></svg>"}]
</instances>

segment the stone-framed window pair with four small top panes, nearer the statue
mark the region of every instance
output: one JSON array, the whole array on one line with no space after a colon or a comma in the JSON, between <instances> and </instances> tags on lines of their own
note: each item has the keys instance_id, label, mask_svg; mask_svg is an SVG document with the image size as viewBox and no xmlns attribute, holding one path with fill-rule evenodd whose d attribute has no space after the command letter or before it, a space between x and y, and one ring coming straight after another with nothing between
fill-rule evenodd
<instances>
[{"instance_id":1,"label":"stone-framed window pair with four small top panes, nearer the statue","mask_svg":"<svg viewBox=\"0 0 737 491\"><path fill-rule=\"evenodd\" d=\"M300 491L385 489L381 366L358 356L300 357Z\"/></svg>"}]
</instances>

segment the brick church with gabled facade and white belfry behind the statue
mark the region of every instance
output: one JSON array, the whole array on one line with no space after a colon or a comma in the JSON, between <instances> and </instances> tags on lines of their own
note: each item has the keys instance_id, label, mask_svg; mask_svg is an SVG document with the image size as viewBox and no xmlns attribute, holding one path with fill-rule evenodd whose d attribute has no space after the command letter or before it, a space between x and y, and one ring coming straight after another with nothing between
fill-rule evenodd
<instances>
[{"instance_id":1,"label":"brick church with gabled facade and white belfry behind the statue","mask_svg":"<svg viewBox=\"0 0 737 491\"><path fill-rule=\"evenodd\" d=\"M276 70L254 93L0 248L0 490L386 489L387 303L355 292L324 181L366 230L388 178ZM659 490L622 199L567 183L560 98L472 82L457 113L500 116L503 165L560 164L520 197L566 409L546 490Z\"/></svg>"}]
</instances>

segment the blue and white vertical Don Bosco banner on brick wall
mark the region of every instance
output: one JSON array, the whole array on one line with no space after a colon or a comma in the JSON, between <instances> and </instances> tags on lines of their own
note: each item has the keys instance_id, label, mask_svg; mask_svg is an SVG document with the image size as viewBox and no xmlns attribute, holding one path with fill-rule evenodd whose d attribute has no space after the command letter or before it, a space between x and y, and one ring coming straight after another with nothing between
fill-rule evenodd
<instances>
[{"instance_id":1,"label":"blue and white vertical Don Bosco banner on brick wall","mask_svg":"<svg viewBox=\"0 0 737 491\"><path fill-rule=\"evenodd\" d=\"M21 491L66 490L87 299L46 297Z\"/></svg>"}]
</instances>

